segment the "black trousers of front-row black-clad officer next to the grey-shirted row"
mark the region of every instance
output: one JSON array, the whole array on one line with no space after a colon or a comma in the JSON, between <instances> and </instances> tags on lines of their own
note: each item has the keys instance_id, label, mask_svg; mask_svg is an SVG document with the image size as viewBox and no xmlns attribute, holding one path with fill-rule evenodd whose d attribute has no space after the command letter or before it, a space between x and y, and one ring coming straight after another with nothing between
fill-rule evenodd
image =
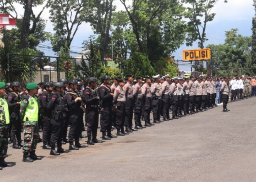
<instances>
[{"instance_id":1,"label":"black trousers of front-row black-clad officer next to the grey-shirted row","mask_svg":"<svg viewBox=\"0 0 256 182\"><path fill-rule=\"evenodd\" d=\"M101 111L101 132L111 132L112 128L112 106L106 106Z\"/></svg>"}]
</instances>

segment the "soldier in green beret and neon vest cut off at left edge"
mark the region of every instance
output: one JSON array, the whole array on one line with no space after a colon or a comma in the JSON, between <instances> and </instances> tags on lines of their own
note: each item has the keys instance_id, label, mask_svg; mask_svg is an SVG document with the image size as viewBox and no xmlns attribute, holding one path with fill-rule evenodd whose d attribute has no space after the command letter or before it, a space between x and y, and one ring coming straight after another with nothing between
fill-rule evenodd
<instances>
[{"instance_id":1,"label":"soldier in green beret and neon vest cut off at left edge","mask_svg":"<svg viewBox=\"0 0 256 182\"><path fill-rule=\"evenodd\" d=\"M10 167L11 163L4 161L8 149L8 125L10 123L8 104L3 98L5 83L0 82L0 170L2 167Z\"/></svg>"}]
</instances>

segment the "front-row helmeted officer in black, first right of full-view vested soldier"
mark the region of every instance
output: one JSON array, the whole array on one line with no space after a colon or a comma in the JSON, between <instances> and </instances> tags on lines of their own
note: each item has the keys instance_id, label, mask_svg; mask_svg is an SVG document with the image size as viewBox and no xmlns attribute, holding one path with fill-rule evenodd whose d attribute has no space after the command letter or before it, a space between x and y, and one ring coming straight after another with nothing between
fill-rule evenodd
<instances>
[{"instance_id":1,"label":"front-row helmeted officer in black, first right of full-view vested soldier","mask_svg":"<svg viewBox=\"0 0 256 182\"><path fill-rule=\"evenodd\" d=\"M52 135L50 136L50 155L60 155L60 153L68 153L68 150L62 148L61 139L63 132L63 114L67 110L67 105L64 103L62 96L63 83L56 82L53 84L53 93L50 96L47 111L52 126ZM57 143L57 151L55 150L55 144Z\"/></svg>"}]
</instances>

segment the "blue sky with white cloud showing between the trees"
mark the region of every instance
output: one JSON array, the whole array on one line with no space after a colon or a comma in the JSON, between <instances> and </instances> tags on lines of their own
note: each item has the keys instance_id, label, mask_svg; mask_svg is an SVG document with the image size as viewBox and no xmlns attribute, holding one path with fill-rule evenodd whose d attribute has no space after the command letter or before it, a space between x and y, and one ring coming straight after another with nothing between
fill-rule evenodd
<instances>
[{"instance_id":1,"label":"blue sky with white cloud showing between the trees","mask_svg":"<svg viewBox=\"0 0 256 182\"><path fill-rule=\"evenodd\" d=\"M212 8L212 12L215 12L215 18L212 22L207 24L206 36L208 41L204 44L205 47L208 44L222 44L225 40L225 31L231 28L238 28L239 34L242 36L251 36L252 31L252 17L255 15L253 9L253 0L228 0L228 3L224 3L224 0L219 0L218 3ZM131 0L128 1L128 3ZM114 4L117 6L117 10L124 10L123 5L119 0L114 0ZM40 9L40 8L38 8ZM18 8L18 14L22 14L22 7ZM43 16L45 19L49 17L49 11L46 9ZM46 23L46 31L53 33L52 23L48 21ZM80 25L74 40L71 44L71 50L80 52L82 50L83 40L88 39L90 35L93 35L93 31L89 23L83 23ZM45 44L45 43L43 43ZM49 42L46 42L49 45ZM80 48L79 48L80 47ZM197 42L192 47L182 45L176 52L173 53L176 59L182 60L182 50L196 49ZM45 50L42 50L45 51ZM52 51L45 51L45 55L54 55ZM72 56L75 56L72 55ZM180 62L181 63L181 62ZM179 66L182 71L189 71L190 66Z\"/></svg>"}]
</instances>

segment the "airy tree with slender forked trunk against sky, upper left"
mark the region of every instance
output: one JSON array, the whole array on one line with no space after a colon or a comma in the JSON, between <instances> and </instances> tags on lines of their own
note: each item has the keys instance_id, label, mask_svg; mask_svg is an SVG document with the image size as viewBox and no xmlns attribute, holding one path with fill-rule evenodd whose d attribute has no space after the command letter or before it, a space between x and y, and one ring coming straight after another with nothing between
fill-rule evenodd
<instances>
[{"instance_id":1,"label":"airy tree with slender forked trunk against sky, upper left","mask_svg":"<svg viewBox=\"0 0 256 182\"><path fill-rule=\"evenodd\" d=\"M79 26L89 20L90 0L51 0L50 21L55 31L51 37L53 50L58 52L67 44L70 48Z\"/></svg>"}]
</instances>

